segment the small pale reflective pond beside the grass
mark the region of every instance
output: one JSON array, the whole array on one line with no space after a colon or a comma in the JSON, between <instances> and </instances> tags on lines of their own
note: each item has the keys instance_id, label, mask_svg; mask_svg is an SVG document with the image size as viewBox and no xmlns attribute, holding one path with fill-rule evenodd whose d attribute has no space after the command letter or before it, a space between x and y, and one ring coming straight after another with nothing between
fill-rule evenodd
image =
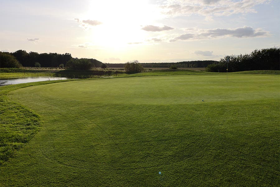
<instances>
[{"instance_id":1,"label":"small pale reflective pond beside the grass","mask_svg":"<svg viewBox=\"0 0 280 187\"><path fill-rule=\"evenodd\" d=\"M67 77L27 77L27 78L18 78L18 79L1 79L0 86L9 85L9 84L21 84L21 83L31 83L39 82L46 80L65 80L69 79Z\"/></svg>"}]
</instances>

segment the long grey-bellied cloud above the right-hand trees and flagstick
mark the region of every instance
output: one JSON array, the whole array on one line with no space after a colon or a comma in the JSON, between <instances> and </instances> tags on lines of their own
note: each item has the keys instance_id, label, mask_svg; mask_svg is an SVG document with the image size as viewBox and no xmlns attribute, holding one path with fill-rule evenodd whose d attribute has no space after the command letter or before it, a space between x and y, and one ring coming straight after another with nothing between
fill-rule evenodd
<instances>
[{"instance_id":1,"label":"long grey-bellied cloud above the right-hand trees and flagstick","mask_svg":"<svg viewBox=\"0 0 280 187\"><path fill-rule=\"evenodd\" d=\"M175 38L171 39L172 41L177 40L199 40L199 39L211 39L211 38L218 38L218 37L237 37L237 38L250 38L250 37L267 37L270 36L268 31L264 31L260 28L253 29L249 26L244 26L235 29L207 29L207 30L198 30L195 33L186 33L180 36L176 36Z\"/></svg>"}]
</instances>

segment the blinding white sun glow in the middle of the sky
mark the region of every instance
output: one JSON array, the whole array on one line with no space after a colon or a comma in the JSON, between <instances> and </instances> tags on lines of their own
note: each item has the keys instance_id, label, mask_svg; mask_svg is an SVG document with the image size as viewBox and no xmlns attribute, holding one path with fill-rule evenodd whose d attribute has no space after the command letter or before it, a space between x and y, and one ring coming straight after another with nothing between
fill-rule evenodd
<instances>
[{"instance_id":1,"label":"blinding white sun glow in the middle of the sky","mask_svg":"<svg viewBox=\"0 0 280 187\"><path fill-rule=\"evenodd\" d=\"M128 8L129 7L129 8ZM147 40L148 33L142 26L153 24L161 17L159 8L148 1L91 1L84 20L102 22L92 26L91 43L112 48L129 47L128 43L141 44Z\"/></svg>"}]
</instances>

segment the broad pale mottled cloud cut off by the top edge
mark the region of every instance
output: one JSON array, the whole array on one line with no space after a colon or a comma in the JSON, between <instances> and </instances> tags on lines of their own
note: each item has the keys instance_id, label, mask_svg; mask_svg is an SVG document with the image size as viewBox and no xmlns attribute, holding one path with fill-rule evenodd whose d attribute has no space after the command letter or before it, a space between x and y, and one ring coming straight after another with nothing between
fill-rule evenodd
<instances>
[{"instance_id":1,"label":"broad pale mottled cloud cut off by the top edge","mask_svg":"<svg viewBox=\"0 0 280 187\"><path fill-rule=\"evenodd\" d=\"M239 13L256 13L257 11L254 7L267 2L270 2L270 0L170 0L167 1L166 5L161 6L161 8L163 13L169 16L187 16L192 14L203 16L227 16Z\"/></svg>"}]
</instances>

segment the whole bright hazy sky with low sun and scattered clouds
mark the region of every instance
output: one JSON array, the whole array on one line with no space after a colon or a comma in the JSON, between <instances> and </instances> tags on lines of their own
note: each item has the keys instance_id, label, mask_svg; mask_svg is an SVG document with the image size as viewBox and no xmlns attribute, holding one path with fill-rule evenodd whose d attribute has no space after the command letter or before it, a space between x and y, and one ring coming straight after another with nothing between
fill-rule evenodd
<instances>
[{"instance_id":1,"label":"whole bright hazy sky with low sun and scattered clouds","mask_svg":"<svg viewBox=\"0 0 280 187\"><path fill-rule=\"evenodd\" d=\"M220 60L280 47L279 0L0 0L0 51L103 63Z\"/></svg>"}]
</instances>

